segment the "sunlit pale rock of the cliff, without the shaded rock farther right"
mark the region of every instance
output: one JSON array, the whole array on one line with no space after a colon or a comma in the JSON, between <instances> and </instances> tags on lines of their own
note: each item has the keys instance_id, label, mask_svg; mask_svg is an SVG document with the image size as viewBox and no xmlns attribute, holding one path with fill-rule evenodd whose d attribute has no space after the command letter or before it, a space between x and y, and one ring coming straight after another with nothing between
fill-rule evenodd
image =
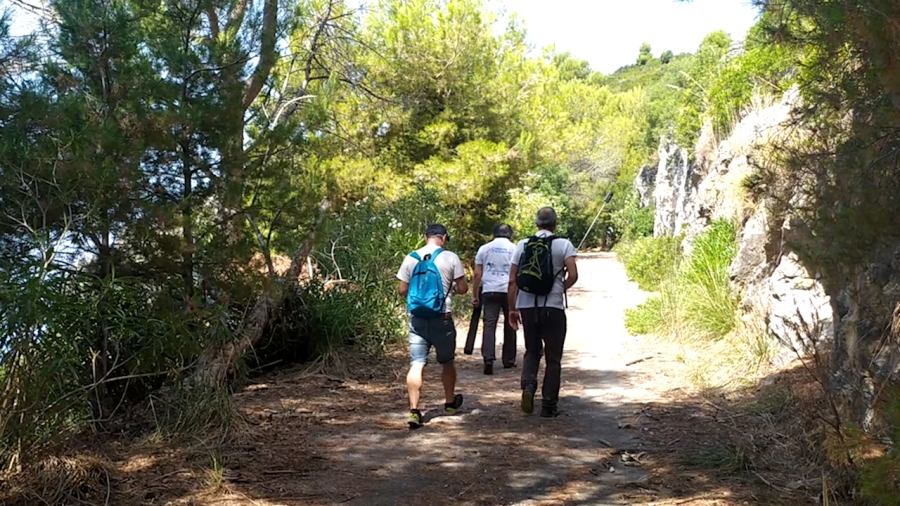
<instances>
[{"instance_id":1,"label":"sunlit pale rock of the cliff, without the shaded rock farther right","mask_svg":"<svg viewBox=\"0 0 900 506\"><path fill-rule=\"evenodd\" d=\"M790 221L778 222L764 202L751 202L742 183L755 170L753 157L778 135L797 101L792 91L778 103L747 113L719 143L709 130L704 131L694 161L688 160L685 149L663 142L653 193L654 234L683 233L687 254L694 238L713 220L738 221L733 285L744 312L763 318L768 331L785 345L785 359L794 348L805 347L797 329L816 325L821 332L833 334L831 298L819 276L809 272L784 244Z\"/></svg>"}]
</instances>

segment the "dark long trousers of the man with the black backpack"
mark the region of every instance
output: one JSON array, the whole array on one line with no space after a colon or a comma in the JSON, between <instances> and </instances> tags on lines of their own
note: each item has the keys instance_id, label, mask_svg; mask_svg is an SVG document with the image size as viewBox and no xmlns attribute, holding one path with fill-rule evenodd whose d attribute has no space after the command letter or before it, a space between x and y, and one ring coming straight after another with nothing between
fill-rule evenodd
<instances>
[{"instance_id":1,"label":"dark long trousers of the man with the black backpack","mask_svg":"<svg viewBox=\"0 0 900 506\"><path fill-rule=\"evenodd\" d=\"M555 406L559 401L562 350L566 343L566 312L556 308L521 309L525 329L525 360L522 366L522 390L537 392L537 372L541 355L546 357L541 402Z\"/></svg>"}]
</instances>

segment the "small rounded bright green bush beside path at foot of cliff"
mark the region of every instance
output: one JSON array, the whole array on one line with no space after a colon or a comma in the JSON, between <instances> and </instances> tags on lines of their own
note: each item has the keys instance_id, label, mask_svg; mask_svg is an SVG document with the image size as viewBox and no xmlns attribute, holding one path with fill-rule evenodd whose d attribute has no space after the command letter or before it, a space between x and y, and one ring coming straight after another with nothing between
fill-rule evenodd
<instances>
[{"instance_id":1,"label":"small rounded bright green bush beside path at foot of cliff","mask_svg":"<svg viewBox=\"0 0 900 506\"><path fill-rule=\"evenodd\" d=\"M642 237L616 248L628 277L641 290L657 291L677 267L681 240L676 237Z\"/></svg>"}]
</instances>

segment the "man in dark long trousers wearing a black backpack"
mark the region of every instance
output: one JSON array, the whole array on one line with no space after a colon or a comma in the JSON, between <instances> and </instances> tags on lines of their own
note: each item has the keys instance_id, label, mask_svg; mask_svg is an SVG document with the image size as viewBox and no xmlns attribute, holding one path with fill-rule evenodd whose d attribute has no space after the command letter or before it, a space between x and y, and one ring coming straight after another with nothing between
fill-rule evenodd
<instances>
[{"instance_id":1,"label":"man in dark long trousers wearing a black backpack","mask_svg":"<svg viewBox=\"0 0 900 506\"><path fill-rule=\"evenodd\" d=\"M535 224L538 231L520 241L509 270L510 324L525 330L522 364L522 411L534 411L537 373L541 355L546 360L541 387L541 416L559 415L560 376L566 342L565 293L578 281L575 246L553 235L557 216L552 207L541 208Z\"/></svg>"}]
</instances>

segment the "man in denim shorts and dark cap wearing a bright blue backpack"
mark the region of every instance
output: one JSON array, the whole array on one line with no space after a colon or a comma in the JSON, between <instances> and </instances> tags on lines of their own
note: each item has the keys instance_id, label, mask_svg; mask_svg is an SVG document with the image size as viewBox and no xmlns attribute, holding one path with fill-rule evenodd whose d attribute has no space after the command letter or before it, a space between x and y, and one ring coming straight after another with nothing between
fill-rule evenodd
<instances>
[{"instance_id":1,"label":"man in denim shorts and dark cap wearing a bright blue backpack","mask_svg":"<svg viewBox=\"0 0 900 506\"><path fill-rule=\"evenodd\" d=\"M463 295L469 286L459 256L444 248L450 242L446 227L428 225L425 246L413 251L400 265L400 295L406 297L409 311L409 373L406 389L409 393L409 427L421 427L419 394L422 390L422 371L432 346L437 363L441 364L444 384L444 411L455 413L462 406L463 396L456 393L456 326L451 313L453 292Z\"/></svg>"}]
</instances>

